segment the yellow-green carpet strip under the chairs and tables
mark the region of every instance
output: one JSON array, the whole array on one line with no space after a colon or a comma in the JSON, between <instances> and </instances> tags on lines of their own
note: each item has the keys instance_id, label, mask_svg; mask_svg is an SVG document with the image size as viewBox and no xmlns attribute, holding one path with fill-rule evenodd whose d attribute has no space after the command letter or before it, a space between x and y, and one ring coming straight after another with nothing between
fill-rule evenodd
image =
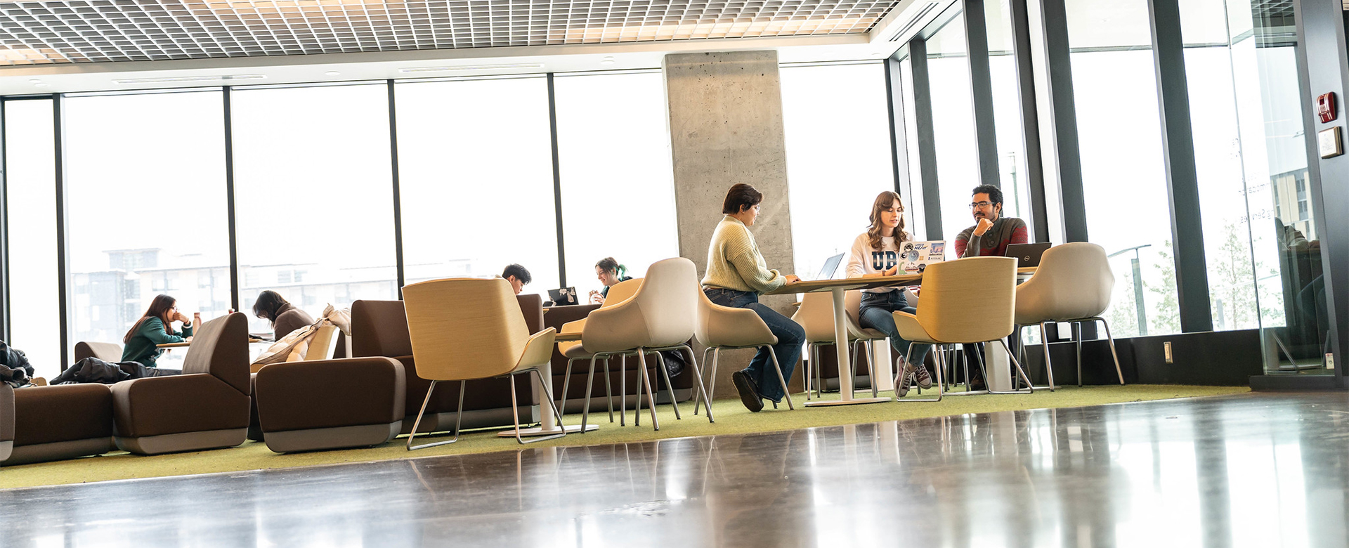
<instances>
[{"instance_id":1,"label":"yellow-green carpet strip under the chairs and tables","mask_svg":"<svg viewBox=\"0 0 1349 548\"><path fill-rule=\"evenodd\" d=\"M1129 386L1089 386L1064 387L1058 391L1037 390L1031 395L969 395L946 398L942 402L870 405L846 405L804 409L804 395L796 394L797 409L788 412L786 405L774 410L772 406L762 413L750 413L739 400L718 400L712 402L715 424L708 424L703 416L692 416L692 404L681 405L684 420L676 421L669 405L657 408L661 429L653 432L650 414L645 414L641 427L618 427L610 424L607 413L592 413L591 418L600 425L599 431L585 435L568 435L558 440L540 441L526 445L596 445L612 443L649 441L669 437L731 435L749 432L788 431L811 427L834 427L842 424L877 422L905 418L938 417L965 413L987 413L1020 409L1078 408L1086 405L1120 404L1133 401L1184 398L1197 395L1222 395L1249 391L1242 386L1175 386L1175 385L1129 385ZM858 395L870 395L859 393ZM915 397L915 393L909 394ZM924 393L924 397L928 394ZM838 394L826 394L826 400ZM567 424L580 424L580 416L568 414ZM279 455L267 449L263 443L248 441L231 449L200 451L174 455L136 456L115 452L103 456L61 460L53 463L23 464L0 468L0 489L31 487L45 485L66 485L104 482L112 479L159 478L171 475L232 472L243 470L289 468L317 464L336 464L389 459L424 458L437 455L463 455L491 451L517 451L522 448L514 439L502 439L494 432L471 432L459 443L432 447L415 452L403 448L399 437L384 445L362 449L320 451L309 454Z\"/></svg>"}]
</instances>

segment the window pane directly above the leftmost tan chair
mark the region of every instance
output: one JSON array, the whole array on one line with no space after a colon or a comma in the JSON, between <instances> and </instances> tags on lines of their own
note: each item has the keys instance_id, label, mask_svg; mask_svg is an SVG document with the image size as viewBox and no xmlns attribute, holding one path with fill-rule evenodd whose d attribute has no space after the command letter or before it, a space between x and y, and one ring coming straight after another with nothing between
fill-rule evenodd
<instances>
[{"instance_id":1,"label":"window pane directly above the leftmost tan chair","mask_svg":"<svg viewBox=\"0 0 1349 548\"><path fill-rule=\"evenodd\" d=\"M398 186L409 283L499 275L558 286L544 77L399 82Z\"/></svg>"}]
</instances>

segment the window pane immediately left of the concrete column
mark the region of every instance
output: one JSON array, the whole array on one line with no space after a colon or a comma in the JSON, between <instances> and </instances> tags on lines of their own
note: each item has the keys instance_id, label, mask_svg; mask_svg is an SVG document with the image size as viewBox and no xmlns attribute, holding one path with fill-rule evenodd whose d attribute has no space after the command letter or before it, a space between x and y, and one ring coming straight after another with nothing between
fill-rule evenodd
<instances>
[{"instance_id":1,"label":"window pane immediately left of the concrete column","mask_svg":"<svg viewBox=\"0 0 1349 548\"><path fill-rule=\"evenodd\" d=\"M612 256L639 278L679 256L665 78L575 74L553 84L567 285L584 298L600 289L599 259Z\"/></svg>"}]
</instances>

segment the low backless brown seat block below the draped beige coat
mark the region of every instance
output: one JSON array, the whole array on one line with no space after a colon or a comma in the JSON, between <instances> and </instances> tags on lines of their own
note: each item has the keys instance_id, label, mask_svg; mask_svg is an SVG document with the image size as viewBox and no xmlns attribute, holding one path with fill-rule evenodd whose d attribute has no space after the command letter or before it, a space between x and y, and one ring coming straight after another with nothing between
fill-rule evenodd
<instances>
[{"instance_id":1,"label":"low backless brown seat block below the draped beige coat","mask_svg":"<svg viewBox=\"0 0 1349 548\"><path fill-rule=\"evenodd\" d=\"M403 366L391 358L272 363L254 389L275 452L378 445L398 436L407 409Z\"/></svg>"}]
</instances>

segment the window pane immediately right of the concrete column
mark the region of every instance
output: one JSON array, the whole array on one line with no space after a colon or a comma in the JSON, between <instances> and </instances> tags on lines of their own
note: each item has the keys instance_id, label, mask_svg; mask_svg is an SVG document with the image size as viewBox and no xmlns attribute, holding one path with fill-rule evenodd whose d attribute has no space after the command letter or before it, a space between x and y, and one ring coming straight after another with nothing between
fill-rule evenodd
<instances>
[{"instance_id":1,"label":"window pane immediately right of the concrete column","mask_svg":"<svg viewBox=\"0 0 1349 548\"><path fill-rule=\"evenodd\" d=\"M876 196L894 190L885 65L784 66L778 74L796 274L813 279L867 229ZM913 234L908 213L905 227Z\"/></svg>"}]
</instances>

